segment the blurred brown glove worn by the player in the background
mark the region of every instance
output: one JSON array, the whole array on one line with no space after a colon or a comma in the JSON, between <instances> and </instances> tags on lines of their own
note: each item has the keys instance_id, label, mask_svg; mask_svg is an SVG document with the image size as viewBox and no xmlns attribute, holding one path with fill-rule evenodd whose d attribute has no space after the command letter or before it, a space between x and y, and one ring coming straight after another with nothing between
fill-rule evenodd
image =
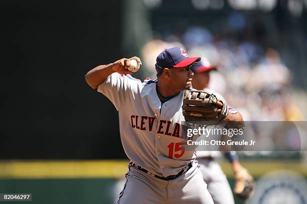
<instances>
[{"instance_id":1,"label":"blurred brown glove worn by the player in the background","mask_svg":"<svg viewBox=\"0 0 307 204\"><path fill-rule=\"evenodd\" d=\"M235 174L235 186L234 186L234 194L240 198L247 200L254 193L254 178L246 168L241 168Z\"/></svg>"}]
</instances>

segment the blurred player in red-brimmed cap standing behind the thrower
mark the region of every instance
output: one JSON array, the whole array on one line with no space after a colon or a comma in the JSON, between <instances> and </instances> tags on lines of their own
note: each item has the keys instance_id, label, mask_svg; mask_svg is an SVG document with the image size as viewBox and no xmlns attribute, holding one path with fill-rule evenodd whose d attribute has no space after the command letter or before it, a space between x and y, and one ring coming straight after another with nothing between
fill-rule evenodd
<instances>
[{"instance_id":1,"label":"blurred player in red-brimmed cap standing behind the thrower","mask_svg":"<svg viewBox=\"0 0 307 204\"><path fill-rule=\"evenodd\" d=\"M216 69L216 65L212 65L206 58L202 58L202 60L198 64L194 64L191 69L194 72L193 88L214 92L207 87L210 80L210 71ZM223 101L226 101L219 93L214 92L214 94ZM236 110L231 107L229 108L229 111L231 111L233 114L236 114ZM241 173L246 172L246 169L244 169L238 161L238 157L235 151L224 151L223 153L232 164L232 169L237 177ZM201 166L200 169L204 180L208 184L207 188L212 195L214 203L234 204L233 194L227 181L226 175L222 171L221 166L216 161L216 159L220 156L220 151L197 151L197 159ZM235 189L235 192L241 190L242 189Z\"/></svg>"}]
</instances>

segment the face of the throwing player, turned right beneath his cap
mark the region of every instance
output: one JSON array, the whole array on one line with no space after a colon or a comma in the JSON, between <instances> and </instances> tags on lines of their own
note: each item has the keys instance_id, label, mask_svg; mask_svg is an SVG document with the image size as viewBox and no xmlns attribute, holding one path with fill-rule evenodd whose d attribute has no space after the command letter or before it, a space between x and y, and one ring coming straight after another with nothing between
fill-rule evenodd
<instances>
[{"instance_id":1,"label":"face of the throwing player, turned right beneath his cap","mask_svg":"<svg viewBox=\"0 0 307 204\"><path fill-rule=\"evenodd\" d=\"M182 68L172 68L173 87L177 90L189 89L192 86L192 72L190 66Z\"/></svg>"}]
</instances>

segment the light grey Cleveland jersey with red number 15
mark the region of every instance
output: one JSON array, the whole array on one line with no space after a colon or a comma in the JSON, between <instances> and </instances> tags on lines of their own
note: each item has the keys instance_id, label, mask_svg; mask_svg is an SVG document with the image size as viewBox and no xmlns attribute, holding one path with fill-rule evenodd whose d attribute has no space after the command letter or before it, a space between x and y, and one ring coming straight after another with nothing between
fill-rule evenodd
<instances>
[{"instance_id":1,"label":"light grey Cleveland jersey with red number 15","mask_svg":"<svg viewBox=\"0 0 307 204\"><path fill-rule=\"evenodd\" d=\"M181 124L185 121L181 108L184 91L161 106L156 86L157 80L146 78L142 83L115 72L98 91L118 110L121 142L128 158L151 173L174 175L196 157L194 150L182 148L186 141Z\"/></svg>"}]
</instances>

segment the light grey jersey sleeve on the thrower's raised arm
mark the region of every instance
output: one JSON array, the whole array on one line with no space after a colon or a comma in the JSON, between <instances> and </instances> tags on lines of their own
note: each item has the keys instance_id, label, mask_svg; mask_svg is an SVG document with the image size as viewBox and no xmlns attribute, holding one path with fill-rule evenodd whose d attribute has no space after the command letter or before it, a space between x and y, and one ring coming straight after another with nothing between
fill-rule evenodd
<instances>
[{"instance_id":1,"label":"light grey jersey sleeve on the thrower's raised arm","mask_svg":"<svg viewBox=\"0 0 307 204\"><path fill-rule=\"evenodd\" d=\"M125 104L126 99L137 92L137 83L138 80L132 76L115 72L98 86L97 91L107 96L118 111Z\"/></svg>"}]
</instances>

